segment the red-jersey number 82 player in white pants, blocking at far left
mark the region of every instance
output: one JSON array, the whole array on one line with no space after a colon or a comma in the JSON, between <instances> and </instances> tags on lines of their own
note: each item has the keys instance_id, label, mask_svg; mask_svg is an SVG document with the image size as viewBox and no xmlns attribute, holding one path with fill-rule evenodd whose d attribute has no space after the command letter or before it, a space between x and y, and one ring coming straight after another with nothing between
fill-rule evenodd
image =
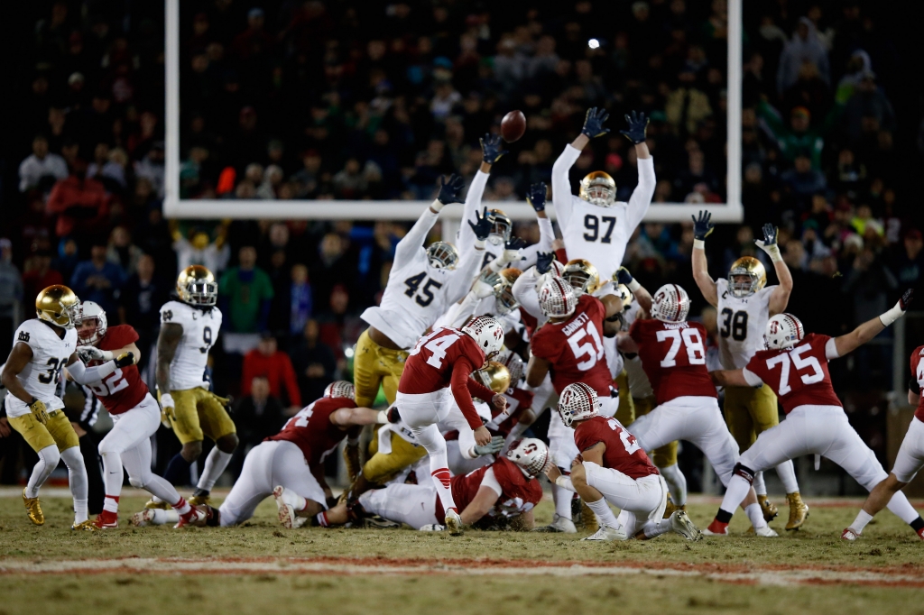
<instances>
[{"instance_id":1,"label":"red-jersey number 82 player in white pants, blocking at far left","mask_svg":"<svg viewBox=\"0 0 924 615\"><path fill-rule=\"evenodd\" d=\"M75 319L78 355L88 364L109 361L114 356L133 353L140 356L138 333L128 325L109 327L106 313L98 304L84 301ZM113 418L113 428L100 442L106 497L103 513L93 525L118 527L118 500L122 493L122 467L128 470L132 487L143 488L170 502L177 513L177 527L201 524L205 513L191 507L176 488L151 471L151 436L161 422L161 409L140 378L137 365L117 368L102 380L88 383L96 398Z\"/></svg>"}]
</instances>

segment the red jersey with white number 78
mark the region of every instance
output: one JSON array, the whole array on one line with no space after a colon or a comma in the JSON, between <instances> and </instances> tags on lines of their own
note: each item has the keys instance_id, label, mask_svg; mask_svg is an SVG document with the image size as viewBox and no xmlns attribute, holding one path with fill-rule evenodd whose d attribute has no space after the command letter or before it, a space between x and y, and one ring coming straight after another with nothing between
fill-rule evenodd
<instances>
[{"instance_id":1,"label":"red jersey with white number 78","mask_svg":"<svg viewBox=\"0 0 924 615\"><path fill-rule=\"evenodd\" d=\"M706 368L706 328L699 322L636 320L629 337L658 404L677 397L716 397Z\"/></svg>"}]
</instances>

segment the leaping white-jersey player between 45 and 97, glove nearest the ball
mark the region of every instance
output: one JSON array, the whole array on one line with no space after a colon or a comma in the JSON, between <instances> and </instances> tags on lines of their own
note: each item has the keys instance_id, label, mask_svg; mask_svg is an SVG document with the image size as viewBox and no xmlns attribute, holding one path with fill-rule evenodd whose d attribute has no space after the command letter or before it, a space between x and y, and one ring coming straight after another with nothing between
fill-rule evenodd
<instances>
[{"instance_id":1,"label":"leaping white-jersey player between 45 and 97, glove nearest the ball","mask_svg":"<svg viewBox=\"0 0 924 615\"><path fill-rule=\"evenodd\" d=\"M476 214L481 211L481 197L484 196L484 188L488 185L488 177L491 174L491 167L501 159L506 151L502 150L500 135L487 134L481 142L481 163L478 173L472 179L471 186L468 187L466 194L465 207L462 212L462 225L459 227L458 247L462 258L467 256L468 250L472 249L475 243L475 235L466 222L477 223ZM539 223L539 243L527 247L523 250L521 258L517 262L511 263L512 267L523 271L536 264L536 254L539 252L549 252L552 250L552 241L555 234L552 228L552 221L545 213L545 195L547 187L545 184L533 184L529 187L527 200L536 211L536 221ZM540 198L541 193L541 198ZM504 211L498 209L488 210L488 221L491 223L491 235L488 235L488 241L484 246L484 252L481 253L480 269L484 269L493 259L499 258L505 250L505 243L510 241L513 234L513 221L507 217Z\"/></svg>"}]
</instances>

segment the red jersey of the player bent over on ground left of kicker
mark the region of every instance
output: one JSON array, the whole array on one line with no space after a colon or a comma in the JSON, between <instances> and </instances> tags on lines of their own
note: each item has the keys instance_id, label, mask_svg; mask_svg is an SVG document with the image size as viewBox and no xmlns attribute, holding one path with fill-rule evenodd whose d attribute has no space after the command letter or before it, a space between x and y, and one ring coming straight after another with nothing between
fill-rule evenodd
<instances>
[{"instance_id":1,"label":"red jersey of the player bent over on ground left of kicker","mask_svg":"<svg viewBox=\"0 0 924 615\"><path fill-rule=\"evenodd\" d=\"M322 397L288 419L282 430L264 441L288 440L298 445L310 465L320 464L329 452L346 438L346 429L331 423L331 415L340 408L355 408L346 397Z\"/></svg>"}]
</instances>

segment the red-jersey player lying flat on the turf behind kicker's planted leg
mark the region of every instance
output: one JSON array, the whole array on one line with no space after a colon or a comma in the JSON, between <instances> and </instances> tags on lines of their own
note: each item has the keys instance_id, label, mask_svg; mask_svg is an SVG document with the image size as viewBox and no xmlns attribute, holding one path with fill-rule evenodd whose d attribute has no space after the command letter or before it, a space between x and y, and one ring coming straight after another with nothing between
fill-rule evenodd
<instances>
[{"instance_id":1,"label":"red-jersey player lying flat on the turf behind kicker's planted leg","mask_svg":"<svg viewBox=\"0 0 924 615\"><path fill-rule=\"evenodd\" d=\"M532 509L542 499L536 476L548 461L545 442L527 438L515 442L506 456L493 464L453 476L450 486L456 505L462 509L462 523L471 525L485 516L499 521L522 516L525 525L532 527ZM431 485L392 483L363 493L355 503L341 502L327 512L327 520L331 525L343 525L377 514L415 529L443 531L439 519L444 511L444 501Z\"/></svg>"}]
</instances>

